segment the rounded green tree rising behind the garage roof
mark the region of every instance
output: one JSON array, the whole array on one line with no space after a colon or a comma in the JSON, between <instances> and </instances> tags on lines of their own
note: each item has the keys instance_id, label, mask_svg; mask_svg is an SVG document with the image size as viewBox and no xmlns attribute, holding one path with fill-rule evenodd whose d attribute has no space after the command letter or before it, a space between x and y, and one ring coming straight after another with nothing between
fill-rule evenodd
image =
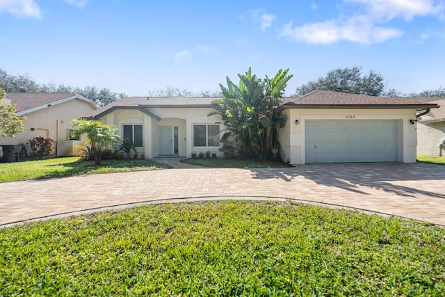
<instances>
[{"instance_id":1,"label":"rounded green tree rising behind the garage roof","mask_svg":"<svg viewBox=\"0 0 445 297\"><path fill-rule=\"evenodd\" d=\"M302 96L313 90L332 90L334 92L380 96L384 94L385 83L380 73L373 70L362 75L362 67L338 68L327 72L326 77L309 81L296 89L296 95Z\"/></svg>"}]
</instances>

